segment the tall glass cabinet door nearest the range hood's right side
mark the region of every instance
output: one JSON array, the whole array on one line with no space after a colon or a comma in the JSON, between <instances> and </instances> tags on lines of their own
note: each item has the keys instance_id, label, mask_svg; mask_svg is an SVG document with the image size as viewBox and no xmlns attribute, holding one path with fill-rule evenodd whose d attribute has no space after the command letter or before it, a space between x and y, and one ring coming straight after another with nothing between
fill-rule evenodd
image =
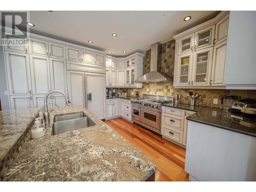
<instances>
[{"instance_id":1,"label":"tall glass cabinet door nearest the range hood's right side","mask_svg":"<svg viewBox=\"0 0 256 192\"><path fill-rule=\"evenodd\" d=\"M190 86L192 55L193 53L187 53L179 56L179 59L178 59L179 86Z\"/></svg>"}]
</instances>

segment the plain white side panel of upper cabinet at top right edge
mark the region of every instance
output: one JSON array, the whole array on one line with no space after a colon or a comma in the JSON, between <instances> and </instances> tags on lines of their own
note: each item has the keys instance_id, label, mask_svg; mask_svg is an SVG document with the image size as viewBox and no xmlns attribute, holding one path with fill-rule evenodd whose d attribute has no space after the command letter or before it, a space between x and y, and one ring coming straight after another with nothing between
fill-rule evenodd
<instances>
[{"instance_id":1,"label":"plain white side panel of upper cabinet at top right edge","mask_svg":"<svg viewBox=\"0 0 256 192\"><path fill-rule=\"evenodd\" d=\"M231 11L225 84L256 84L256 11Z\"/></svg>"}]
</instances>

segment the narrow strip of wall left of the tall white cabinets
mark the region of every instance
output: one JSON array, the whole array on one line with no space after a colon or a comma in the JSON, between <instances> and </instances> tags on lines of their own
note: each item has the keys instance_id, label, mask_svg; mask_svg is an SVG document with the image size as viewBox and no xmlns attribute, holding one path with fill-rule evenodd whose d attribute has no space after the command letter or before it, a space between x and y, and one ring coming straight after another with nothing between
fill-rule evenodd
<instances>
[{"instance_id":1,"label":"narrow strip of wall left of the tall white cabinets","mask_svg":"<svg viewBox=\"0 0 256 192\"><path fill-rule=\"evenodd\" d=\"M0 98L2 110L10 110L9 97L8 95L5 95L5 91L7 91L8 89L3 48L3 46L0 46Z\"/></svg>"}]
</instances>

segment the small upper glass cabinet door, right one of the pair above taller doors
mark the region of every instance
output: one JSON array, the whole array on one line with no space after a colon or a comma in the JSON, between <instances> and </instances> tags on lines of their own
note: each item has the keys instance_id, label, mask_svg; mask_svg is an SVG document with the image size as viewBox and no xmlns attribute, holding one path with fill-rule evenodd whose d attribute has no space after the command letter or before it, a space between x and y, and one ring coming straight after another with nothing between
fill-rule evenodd
<instances>
[{"instance_id":1,"label":"small upper glass cabinet door, right one of the pair above taller doors","mask_svg":"<svg viewBox=\"0 0 256 192\"><path fill-rule=\"evenodd\" d=\"M214 26L208 27L196 33L196 43L194 46L194 51L205 49L213 45L213 35L214 35Z\"/></svg>"}]
</instances>

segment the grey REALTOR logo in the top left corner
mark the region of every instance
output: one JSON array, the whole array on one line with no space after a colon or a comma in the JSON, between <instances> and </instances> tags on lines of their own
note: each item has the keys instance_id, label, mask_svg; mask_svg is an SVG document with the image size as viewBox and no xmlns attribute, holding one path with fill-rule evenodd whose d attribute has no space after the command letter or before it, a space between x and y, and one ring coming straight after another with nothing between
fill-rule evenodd
<instances>
[{"instance_id":1,"label":"grey REALTOR logo in the top left corner","mask_svg":"<svg viewBox=\"0 0 256 192\"><path fill-rule=\"evenodd\" d=\"M28 44L29 26L28 12L1 11L0 45L12 47Z\"/></svg>"}]
</instances>

